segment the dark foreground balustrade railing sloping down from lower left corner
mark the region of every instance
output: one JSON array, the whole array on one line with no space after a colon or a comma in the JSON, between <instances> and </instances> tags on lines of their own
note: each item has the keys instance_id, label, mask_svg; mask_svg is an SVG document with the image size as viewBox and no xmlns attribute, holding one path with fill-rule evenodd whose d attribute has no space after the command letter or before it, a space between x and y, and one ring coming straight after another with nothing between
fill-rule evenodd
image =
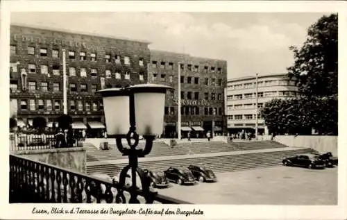
<instances>
[{"instance_id":1,"label":"dark foreground balustrade railing sloping down from lower left corner","mask_svg":"<svg viewBox=\"0 0 347 220\"><path fill-rule=\"evenodd\" d=\"M10 154L10 203L132 203L134 191L115 181ZM139 196L139 198L137 198ZM189 204L137 189L139 203Z\"/></svg>"}]
</instances>

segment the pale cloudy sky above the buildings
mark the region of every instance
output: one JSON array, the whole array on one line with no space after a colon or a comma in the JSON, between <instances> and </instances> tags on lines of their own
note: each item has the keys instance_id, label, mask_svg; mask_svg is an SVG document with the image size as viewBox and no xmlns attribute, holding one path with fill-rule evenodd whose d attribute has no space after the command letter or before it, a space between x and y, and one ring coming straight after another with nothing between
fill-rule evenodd
<instances>
[{"instance_id":1,"label":"pale cloudy sky above the buildings","mask_svg":"<svg viewBox=\"0 0 347 220\"><path fill-rule=\"evenodd\" d=\"M291 45L322 13L12 12L11 22L151 42L151 49L228 61L228 78L285 73Z\"/></svg>"}]
</instances>

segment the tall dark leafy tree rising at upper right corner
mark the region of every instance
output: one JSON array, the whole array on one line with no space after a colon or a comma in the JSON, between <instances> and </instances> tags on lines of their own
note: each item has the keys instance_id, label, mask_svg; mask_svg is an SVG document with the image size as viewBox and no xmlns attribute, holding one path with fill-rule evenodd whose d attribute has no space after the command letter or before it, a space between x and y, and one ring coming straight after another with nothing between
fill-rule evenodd
<instances>
[{"instance_id":1,"label":"tall dark leafy tree rising at upper right corner","mask_svg":"<svg viewBox=\"0 0 347 220\"><path fill-rule=\"evenodd\" d=\"M296 79L301 94L337 94L337 26L336 14L323 16L308 28L301 48L290 47L295 62L287 68L288 76Z\"/></svg>"}]
</instances>

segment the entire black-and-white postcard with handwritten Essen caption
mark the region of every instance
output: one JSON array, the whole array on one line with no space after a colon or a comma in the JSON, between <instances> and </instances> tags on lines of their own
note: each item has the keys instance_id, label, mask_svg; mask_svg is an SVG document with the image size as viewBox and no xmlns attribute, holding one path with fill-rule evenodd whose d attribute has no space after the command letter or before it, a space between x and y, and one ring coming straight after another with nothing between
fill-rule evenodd
<instances>
[{"instance_id":1,"label":"entire black-and-white postcard with handwritten Essen caption","mask_svg":"<svg viewBox=\"0 0 347 220\"><path fill-rule=\"evenodd\" d=\"M346 203L338 7L71 8L11 10L1 28L8 205L34 219L217 219L196 205Z\"/></svg>"}]
</instances>

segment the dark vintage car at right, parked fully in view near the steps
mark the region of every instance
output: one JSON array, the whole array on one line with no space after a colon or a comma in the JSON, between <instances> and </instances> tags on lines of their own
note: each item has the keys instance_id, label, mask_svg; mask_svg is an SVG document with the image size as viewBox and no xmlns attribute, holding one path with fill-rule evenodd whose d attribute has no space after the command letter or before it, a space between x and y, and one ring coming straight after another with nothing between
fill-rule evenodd
<instances>
[{"instance_id":1,"label":"dark vintage car at right, parked fully in view near the steps","mask_svg":"<svg viewBox=\"0 0 347 220\"><path fill-rule=\"evenodd\" d=\"M325 167L324 160L321 160L317 155L306 153L296 155L294 157L285 158L282 160L285 166L307 167L307 168L322 168Z\"/></svg>"}]
</instances>

